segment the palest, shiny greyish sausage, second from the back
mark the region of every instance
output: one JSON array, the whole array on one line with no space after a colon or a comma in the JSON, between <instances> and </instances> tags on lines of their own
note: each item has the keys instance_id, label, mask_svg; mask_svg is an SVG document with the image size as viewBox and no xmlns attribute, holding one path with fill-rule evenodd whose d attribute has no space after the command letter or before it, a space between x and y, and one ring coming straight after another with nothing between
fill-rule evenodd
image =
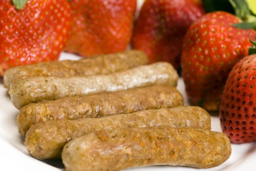
<instances>
[{"instance_id":1,"label":"palest, shiny greyish sausage, second from the back","mask_svg":"<svg viewBox=\"0 0 256 171\"><path fill-rule=\"evenodd\" d=\"M177 85L171 64L159 62L108 75L74 77L22 77L12 82L9 94L17 109L38 101L67 96L128 90L151 85Z\"/></svg>"}]
</instances>

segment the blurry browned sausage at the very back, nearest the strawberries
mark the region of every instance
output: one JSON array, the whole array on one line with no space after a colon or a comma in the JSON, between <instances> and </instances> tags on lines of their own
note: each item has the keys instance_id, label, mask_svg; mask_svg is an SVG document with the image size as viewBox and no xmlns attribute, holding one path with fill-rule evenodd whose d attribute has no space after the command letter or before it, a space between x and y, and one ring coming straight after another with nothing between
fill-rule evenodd
<instances>
[{"instance_id":1,"label":"blurry browned sausage at the very back, nearest the strawberries","mask_svg":"<svg viewBox=\"0 0 256 171\"><path fill-rule=\"evenodd\" d=\"M147 63L148 58L144 52L129 50L94 58L82 58L79 61L49 61L13 67L6 71L3 82L4 87L9 89L12 81L20 76L70 77L109 74Z\"/></svg>"}]
</instances>

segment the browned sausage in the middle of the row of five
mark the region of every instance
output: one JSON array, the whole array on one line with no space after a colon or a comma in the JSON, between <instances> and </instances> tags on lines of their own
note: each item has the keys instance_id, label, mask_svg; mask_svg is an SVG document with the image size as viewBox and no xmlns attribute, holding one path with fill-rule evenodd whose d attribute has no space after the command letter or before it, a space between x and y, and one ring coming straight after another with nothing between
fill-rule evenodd
<instances>
[{"instance_id":1,"label":"browned sausage in the middle of the row of five","mask_svg":"<svg viewBox=\"0 0 256 171\"><path fill-rule=\"evenodd\" d=\"M17 125L20 134L24 136L29 127L38 122L97 118L112 114L177 106L183 106L183 97L175 87L140 87L28 104L21 108L17 116Z\"/></svg>"}]
</instances>

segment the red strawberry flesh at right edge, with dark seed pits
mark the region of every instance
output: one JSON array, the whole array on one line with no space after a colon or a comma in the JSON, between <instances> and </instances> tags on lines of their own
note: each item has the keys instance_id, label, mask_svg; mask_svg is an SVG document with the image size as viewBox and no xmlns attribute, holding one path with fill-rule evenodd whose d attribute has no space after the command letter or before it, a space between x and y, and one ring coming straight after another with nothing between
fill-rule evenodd
<instances>
[{"instance_id":1,"label":"red strawberry flesh at right edge, with dark seed pits","mask_svg":"<svg viewBox=\"0 0 256 171\"><path fill-rule=\"evenodd\" d=\"M234 143L256 140L256 55L233 67L220 106L221 128Z\"/></svg>"}]
</instances>

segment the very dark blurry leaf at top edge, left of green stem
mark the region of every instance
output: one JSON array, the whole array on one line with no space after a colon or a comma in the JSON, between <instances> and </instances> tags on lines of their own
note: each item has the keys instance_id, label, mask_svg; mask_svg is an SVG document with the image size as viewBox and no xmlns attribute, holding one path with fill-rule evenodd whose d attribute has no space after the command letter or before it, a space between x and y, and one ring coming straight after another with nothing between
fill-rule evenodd
<instances>
[{"instance_id":1,"label":"very dark blurry leaf at top edge, left of green stem","mask_svg":"<svg viewBox=\"0 0 256 171\"><path fill-rule=\"evenodd\" d=\"M204 4L205 11L215 12L215 11L225 11L231 14L235 14L233 6L230 4L229 0L202 0Z\"/></svg>"}]
</instances>

